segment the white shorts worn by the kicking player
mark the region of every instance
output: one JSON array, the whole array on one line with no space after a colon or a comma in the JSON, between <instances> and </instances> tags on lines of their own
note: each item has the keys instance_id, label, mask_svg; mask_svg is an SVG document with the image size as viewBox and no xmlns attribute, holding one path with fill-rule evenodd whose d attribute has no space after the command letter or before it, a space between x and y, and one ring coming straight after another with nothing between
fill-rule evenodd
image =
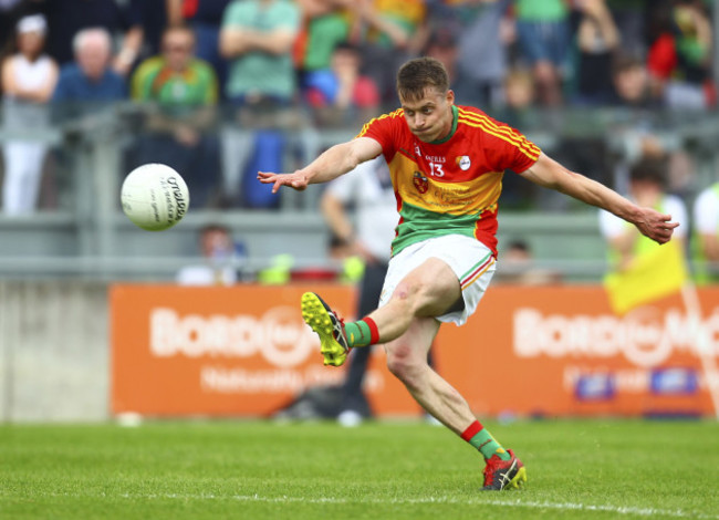
<instances>
[{"instance_id":1,"label":"white shorts worn by the kicking player","mask_svg":"<svg viewBox=\"0 0 719 520\"><path fill-rule=\"evenodd\" d=\"M389 260L389 268L379 297L379 306L389 301L399 282L427 259L447 263L462 291L465 309L436 316L440 322L463 324L475 313L497 269L492 251L482 242L463 235L446 235L413 243Z\"/></svg>"}]
</instances>

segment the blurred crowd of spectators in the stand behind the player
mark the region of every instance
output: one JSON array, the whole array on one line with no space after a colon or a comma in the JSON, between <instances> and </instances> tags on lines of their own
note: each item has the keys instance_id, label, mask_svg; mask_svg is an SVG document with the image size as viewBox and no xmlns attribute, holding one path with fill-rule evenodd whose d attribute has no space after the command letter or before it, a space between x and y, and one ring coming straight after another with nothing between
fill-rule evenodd
<instances>
[{"instance_id":1,"label":"blurred crowd of spectators in the stand behind the player","mask_svg":"<svg viewBox=\"0 0 719 520\"><path fill-rule=\"evenodd\" d=\"M717 179L713 15L711 0L0 0L0 216L72 208L77 150L111 126L119 179L159 162L196 210L316 210L256 173L394 110L398 65L430 55L459 104L624 194L650 177L644 201L671 195L689 220ZM512 175L502 208L577 209Z\"/></svg>"}]
</instances>

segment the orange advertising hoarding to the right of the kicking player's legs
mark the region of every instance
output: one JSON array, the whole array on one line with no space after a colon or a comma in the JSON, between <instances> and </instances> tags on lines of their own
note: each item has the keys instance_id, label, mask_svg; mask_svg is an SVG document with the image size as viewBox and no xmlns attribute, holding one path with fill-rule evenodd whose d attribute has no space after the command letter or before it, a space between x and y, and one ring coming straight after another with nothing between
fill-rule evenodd
<instances>
[{"instance_id":1,"label":"orange advertising hoarding to the right of the kicking player's legs","mask_svg":"<svg viewBox=\"0 0 719 520\"><path fill-rule=\"evenodd\" d=\"M478 414L715 415L719 288L698 295L694 320L679 294L617 316L602 287L493 287L440 368Z\"/></svg>"}]
</instances>

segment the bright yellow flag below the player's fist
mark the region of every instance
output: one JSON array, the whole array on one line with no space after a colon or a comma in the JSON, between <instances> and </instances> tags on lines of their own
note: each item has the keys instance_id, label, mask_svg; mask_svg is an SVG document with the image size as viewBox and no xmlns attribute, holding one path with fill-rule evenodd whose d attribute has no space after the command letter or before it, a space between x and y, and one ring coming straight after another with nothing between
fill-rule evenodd
<instances>
[{"instance_id":1,"label":"bright yellow flag below the player's fist","mask_svg":"<svg viewBox=\"0 0 719 520\"><path fill-rule=\"evenodd\" d=\"M678 292L689 279L679 241L670 241L635 258L628 269L604 278L616 314Z\"/></svg>"}]
</instances>

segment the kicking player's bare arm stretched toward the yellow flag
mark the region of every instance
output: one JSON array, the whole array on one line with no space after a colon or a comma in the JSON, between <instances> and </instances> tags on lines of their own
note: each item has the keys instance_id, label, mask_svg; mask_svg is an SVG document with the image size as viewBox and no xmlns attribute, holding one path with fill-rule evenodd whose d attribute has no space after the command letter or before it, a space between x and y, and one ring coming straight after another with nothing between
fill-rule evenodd
<instances>
[{"instance_id":1,"label":"kicking player's bare arm stretched toward the yellow flag","mask_svg":"<svg viewBox=\"0 0 719 520\"><path fill-rule=\"evenodd\" d=\"M637 206L596 180L570 171L544 154L541 154L539 160L521 175L540 186L555 189L583 202L605 209L632 222L642 235L658 243L668 242L674 229L679 226L678 222L671 221L670 215Z\"/></svg>"}]
</instances>

